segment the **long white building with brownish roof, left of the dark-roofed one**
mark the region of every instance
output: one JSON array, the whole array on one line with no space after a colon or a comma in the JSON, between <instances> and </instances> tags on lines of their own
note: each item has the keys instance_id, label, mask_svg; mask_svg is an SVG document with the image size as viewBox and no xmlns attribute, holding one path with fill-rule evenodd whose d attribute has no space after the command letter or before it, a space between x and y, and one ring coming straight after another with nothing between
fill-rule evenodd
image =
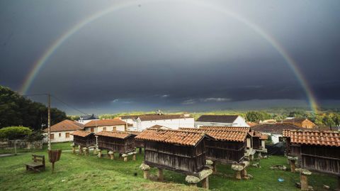
<instances>
[{"instance_id":1,"label":"long white building with brownish roof, left of the dark-roofed one","mask_svg":"<svg viewBox=\"0 0 340 191\"><path fill-rule=\"evenodd\" d=\"M121 116L120 119L132 124L130 130L143 131L154 125L166 126L169 129L192 127L194 119L189 114L145 114L139 116Z\"/></svg>"}]
</instances>

